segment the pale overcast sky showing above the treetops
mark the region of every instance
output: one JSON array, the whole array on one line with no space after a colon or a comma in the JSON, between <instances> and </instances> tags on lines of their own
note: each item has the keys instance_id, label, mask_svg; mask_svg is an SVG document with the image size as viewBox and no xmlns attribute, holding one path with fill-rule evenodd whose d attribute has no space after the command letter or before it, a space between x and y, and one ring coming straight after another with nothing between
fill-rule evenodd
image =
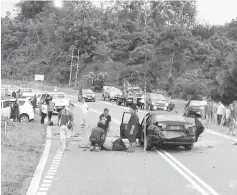
<instances>
[{"instance_id":1,"label":"pale overcast sky showing above the treetops","mask_svg":"<svg viewBox=\"0 0 237 195\"><path fill-rule=\"evenodd\" d=\"M1 0L1 16L5 16L7 11L14 15L17 2L19 0ZM200 23L221 25L237 18L237 0L197 0L197 5L197 19Z\"/></svg>"}]
</instances>

